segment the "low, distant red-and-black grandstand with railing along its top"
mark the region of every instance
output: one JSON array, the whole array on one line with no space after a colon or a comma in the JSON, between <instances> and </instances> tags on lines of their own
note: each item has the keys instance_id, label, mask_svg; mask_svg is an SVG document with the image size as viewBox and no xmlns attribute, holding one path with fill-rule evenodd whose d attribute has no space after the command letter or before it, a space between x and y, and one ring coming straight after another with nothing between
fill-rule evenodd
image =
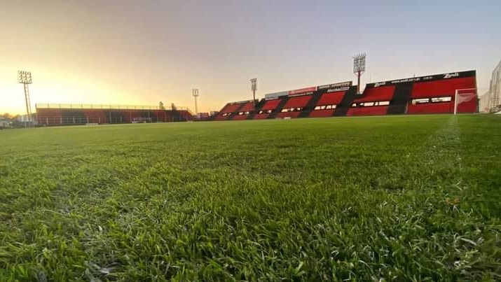
<instances>
[{"instance_id":1,"label":"low, distant red-and-black grandstand with railing along its top","mask_svg":"<svg viewBox=\"0 0 501 282\"><path fill-rule=\"evenodd\" d=\"M38 125L86 125L193 120L188 108L163 106L36 104Z\"/></svg>"}]
</instances>

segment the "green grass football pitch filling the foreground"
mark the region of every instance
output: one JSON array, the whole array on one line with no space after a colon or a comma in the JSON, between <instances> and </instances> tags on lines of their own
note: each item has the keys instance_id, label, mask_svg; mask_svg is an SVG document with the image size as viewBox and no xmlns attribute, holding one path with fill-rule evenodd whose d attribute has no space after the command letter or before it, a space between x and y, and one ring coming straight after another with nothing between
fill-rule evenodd
<instances>
[{"instance_id":1,"label":"green grass football pitch filling the foreground","mask_svg":"<svg viewBox=\"0 0 501 282\"><path fill-rule=\"evenodd\" d=\"M501 279L501 117L0 132L0 281Z\"/></svg>"}]
</instances>

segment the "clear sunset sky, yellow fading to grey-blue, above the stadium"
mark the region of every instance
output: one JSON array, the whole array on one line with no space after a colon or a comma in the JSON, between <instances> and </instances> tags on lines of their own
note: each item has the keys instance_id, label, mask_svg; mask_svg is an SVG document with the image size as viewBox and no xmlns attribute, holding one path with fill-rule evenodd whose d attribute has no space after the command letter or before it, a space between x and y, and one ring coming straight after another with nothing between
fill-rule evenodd
<instances>
[{"instance_id":1,"label":"clear sunset sky, yellow fading to grey-blue, above the stadium","mask_svg":"<svg viewBox=\"0 0 501 282\"><path fill-rule=\"evenodd\" d=\"M501 59L501 1L0 0L0 113L32 107L187 106L270 92L476 69L479 94Z\"/></svg>"}]
</instances>

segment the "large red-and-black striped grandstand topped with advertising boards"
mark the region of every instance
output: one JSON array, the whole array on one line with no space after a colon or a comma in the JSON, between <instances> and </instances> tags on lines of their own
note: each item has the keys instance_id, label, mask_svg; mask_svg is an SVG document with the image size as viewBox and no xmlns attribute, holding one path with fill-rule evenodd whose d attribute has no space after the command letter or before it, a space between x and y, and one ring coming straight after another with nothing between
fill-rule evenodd
<instances>
[{"instance_id":1,"label":"large red-and-black striped grandstand topped with advertising boards","mask_svg":"<svg viewBox=\"0 0 501 282\"><path fill-rule=\"evenodd\" d=\"M266 94L227 103L214 120L476 112L476 71L457 71L369 83L362 94L351 81Z\"/></svg>"}]
</instances>

